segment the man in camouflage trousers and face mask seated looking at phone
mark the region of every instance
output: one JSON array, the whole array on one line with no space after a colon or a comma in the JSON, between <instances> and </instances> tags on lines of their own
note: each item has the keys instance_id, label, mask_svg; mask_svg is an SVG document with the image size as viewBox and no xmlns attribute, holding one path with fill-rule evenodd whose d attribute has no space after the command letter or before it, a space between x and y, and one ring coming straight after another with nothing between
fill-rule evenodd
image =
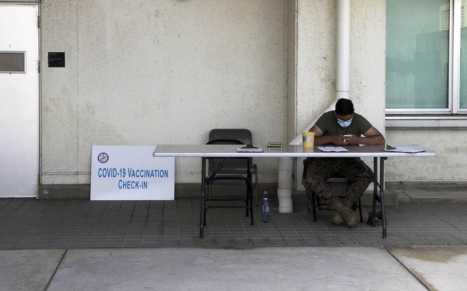
<instances>
[{"instance_id":1,"label":"man in camouflage trousers and face mask seated looking at phone","mask_svg":"<svg viewBox=\"0 0 467 291\"><path fill-rule=\"evenodd\" d=\"M385 143L383 135L363 116L354 113L354 104L344 98L337 101L335 111L324 113L309 131L315 133L315 145ZM344 137L350 134L352 137ZM362 134L364 137L361 136ZM333 222L354 227L359 217L351 206L373 180L372 171L359 158L307 158L303 164L306 169L304 185L308 198L310 199L312 195L311 191L315 192L320 199L327 200L334 206ZM344 199L338 199L333 189L325 182L333 176L345 177L352 182L346 190ZM309 211L310 206L308 206Z\"/></svg>"}]
</instances>

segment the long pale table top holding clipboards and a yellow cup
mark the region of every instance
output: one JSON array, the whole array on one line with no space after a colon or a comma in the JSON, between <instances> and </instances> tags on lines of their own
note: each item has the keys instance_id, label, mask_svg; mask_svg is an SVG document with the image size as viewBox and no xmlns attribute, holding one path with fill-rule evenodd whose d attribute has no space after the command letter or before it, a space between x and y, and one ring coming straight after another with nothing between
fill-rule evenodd
<instances>
[{"instance_id":1,"label":"long pale table top holding clipboards and a yellow cup","mask_svg":"<svg viewBox=\"0 0 467 291\"><path fill-rule=\"evenodd\" d=\"M261 147L260 145L256 145ZM240 144L159 144L156 146L153 157L436 157L433 150L411 145L395 145L394 147L410 147L423 149L421 153L384 152L384 145L378 146L344 146L348 152L321 152L317 147L303 149L302 146L289 146L269 149L262 147L262 153L238 153Z\"/></svg>"}]
</instances>

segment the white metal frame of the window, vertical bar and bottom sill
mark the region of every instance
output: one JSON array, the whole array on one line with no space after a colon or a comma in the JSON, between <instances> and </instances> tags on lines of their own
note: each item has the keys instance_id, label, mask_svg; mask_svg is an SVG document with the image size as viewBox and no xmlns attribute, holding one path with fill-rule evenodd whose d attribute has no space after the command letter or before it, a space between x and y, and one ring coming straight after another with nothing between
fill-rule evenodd
<instances>
[{"instance_id":1,"label":"white metal frame of the window, vertical bar and bottom sill","mask_svg":"<svg viewBox=\"0 0 467 291\"><path fill-rule=\"evenodd\" d=\"M444 115L467 114L467 108L460 108L460 35L462 0L449 1L449 75L447 108L385 108L386 117L395 115Z\"/></svg>"}]
</instances>

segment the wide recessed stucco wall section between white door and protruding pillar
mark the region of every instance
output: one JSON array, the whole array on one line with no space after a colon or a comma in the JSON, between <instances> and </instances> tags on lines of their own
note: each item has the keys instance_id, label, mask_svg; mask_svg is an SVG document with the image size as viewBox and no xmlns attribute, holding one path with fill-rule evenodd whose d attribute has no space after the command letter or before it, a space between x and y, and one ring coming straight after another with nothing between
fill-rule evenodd
<instances>
[{"instance_id":1,"label":"wide recessed stucco wall section between white door and protruding pillar","mask_svg":"<svg viewBox=\"0 0 467 291\"><path fill-rule=\"evenodd\" d=\"M89 183L94 144L285 138L284 2L43 0L41 182ZM63 51L65 68L48 68ZM277 160L255 161L261 181ZM198 182L200 159L176 161Z\"/></svg>"}]
</instances>

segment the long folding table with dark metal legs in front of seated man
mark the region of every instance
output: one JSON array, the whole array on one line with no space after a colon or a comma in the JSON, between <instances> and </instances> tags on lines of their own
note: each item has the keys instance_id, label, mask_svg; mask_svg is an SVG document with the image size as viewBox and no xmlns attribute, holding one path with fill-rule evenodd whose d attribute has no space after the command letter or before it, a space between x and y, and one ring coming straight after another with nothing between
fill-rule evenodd
<instances>
[{"instance_id":1,"label":"long folding table with dark metal legs in front of seated man","mask_svg":"<svg viewBox=\"0 0 467 291\"><path fill-rule=\"evenodd\" d=\"M237 152L237 148L241 147L238 145L221 145L221 144L159 144L154 152L154 157L200 157L202 158L201 168L201 179L205 179L206 175L206 158L229 158L229 157L254 157L254 158L294 158L294 157L372 157L374 159L374 189L373 189L373 226L375 226L375 214L376 214L376 202L378 201L381 205L382 214L382 233L383 238L386 238L386 214L384 206L384 160L390 157L436 157L437 153L423 148L418 145L404 145L394 146L422 149L424 152L420 153L399 153L399 152L386 152L383 151L385 147L379 146L345 146L348 152L321 152L317 147L313 149L303 149L302 146L285 146L283 148L268 149L262 148L263 152ZM378 158L380 160L380 175L378 182ZM200 237L203 237L204 229L204 199L205 199L205 188L204 182L202 181L201 187L201 198L202 210L201 210L201 222L200 222ZM379 194L378 194L379 188ZM291 195L289 197L291 202ZM279 205L280 207L280 205Z\"/></svg>"}]
</instances>

